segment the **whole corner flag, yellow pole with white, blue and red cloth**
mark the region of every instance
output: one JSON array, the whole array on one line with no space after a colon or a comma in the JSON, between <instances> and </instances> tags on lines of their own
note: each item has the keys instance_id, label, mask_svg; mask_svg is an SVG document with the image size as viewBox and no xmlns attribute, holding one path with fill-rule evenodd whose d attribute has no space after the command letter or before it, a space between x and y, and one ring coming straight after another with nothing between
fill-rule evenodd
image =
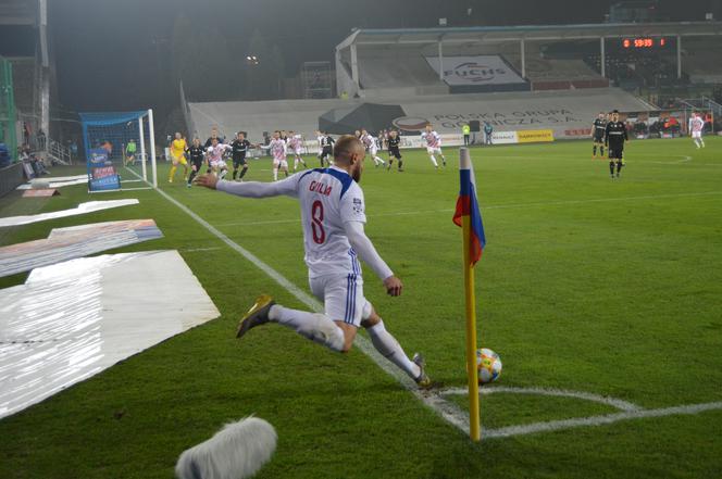
<instances>
[{"instance_id":1,"label":"whole corner flag, yellow pole with white, blue and red cloth","mask_svg":"<svg viewBox=\"0 0 722 479\"><path fill-rule=\"evenodd\" d=\"M478 407L478 370L476 369L476 298L474 293L474 265L482 257L486 244L482 212L476 202L474 169L469 149L459 150L459 178L461 188L453 213L453 223L462 228L464 302L466 318L466 373L469 381L469 436L481 441L482 423Z\"/></svg>"}]
</instances>

